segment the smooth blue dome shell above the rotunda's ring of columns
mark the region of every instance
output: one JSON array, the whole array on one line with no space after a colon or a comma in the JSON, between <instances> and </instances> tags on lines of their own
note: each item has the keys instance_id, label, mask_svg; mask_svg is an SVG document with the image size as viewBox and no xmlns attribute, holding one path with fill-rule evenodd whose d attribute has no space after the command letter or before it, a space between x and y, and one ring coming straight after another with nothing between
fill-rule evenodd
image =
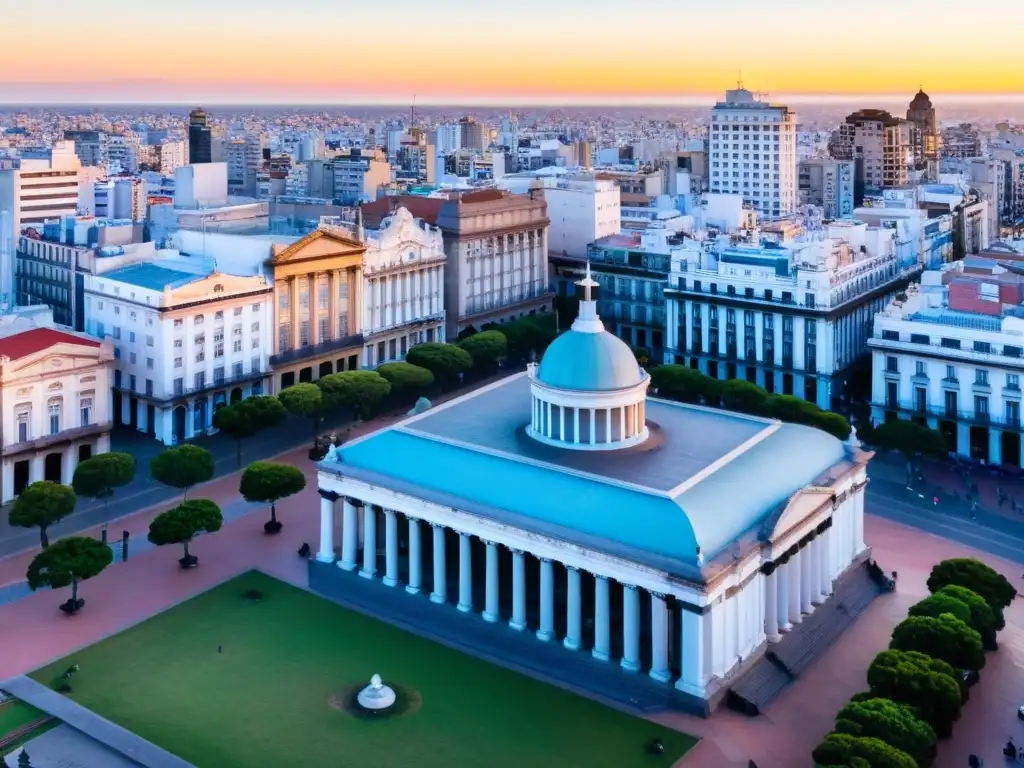
<instances>
[{"instance_id":1,"label":"smooth blue dome shell above the rotunda's ring of columns","mask_svg":"<svg viewBox=\"0 0 1024 768\"><path fill-rule=\"evenodd\" d=\"M566 331L544 353L537 378L556 389L597 392L635 387L644 374L629 345L607 331Z\"/></svg>"}]
</instances>

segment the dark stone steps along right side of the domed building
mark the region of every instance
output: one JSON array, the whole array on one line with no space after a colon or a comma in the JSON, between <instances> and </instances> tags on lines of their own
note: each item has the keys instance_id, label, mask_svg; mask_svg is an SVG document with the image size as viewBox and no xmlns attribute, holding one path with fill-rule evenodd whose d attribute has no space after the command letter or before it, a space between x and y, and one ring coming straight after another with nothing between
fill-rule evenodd
<instances>
[{"instance_id":1,"label":"dark stone steps along right side of the domed building","mask_svg":"<svg viewBox=\"0 0 1024 768\"><path fill-rule=\"evenodd\" d=\"M796 680L870 605L883 588L860 561L841 577L833 596L770 643L765 654L729 688L726 706L754 717Z\"/></svg>"}]
</instances>

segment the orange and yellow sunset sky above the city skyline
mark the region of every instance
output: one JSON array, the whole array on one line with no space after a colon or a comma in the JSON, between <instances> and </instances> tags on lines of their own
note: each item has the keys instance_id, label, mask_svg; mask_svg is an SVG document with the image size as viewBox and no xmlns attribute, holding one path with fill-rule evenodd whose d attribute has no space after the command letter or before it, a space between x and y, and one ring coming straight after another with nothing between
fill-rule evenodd
<instances>
[{"instance_id":1,"label":"orange and yellow sunset sky above the city skyline","mask_svg":"<svg viewBox=\"0 0 1024 768\"><path fill-rule=\"evenodd\" d=\"M710 100L739 72L772 96L1010 94L1020 2L11 0L0 101Z\"/></svg>"}]
</instances>

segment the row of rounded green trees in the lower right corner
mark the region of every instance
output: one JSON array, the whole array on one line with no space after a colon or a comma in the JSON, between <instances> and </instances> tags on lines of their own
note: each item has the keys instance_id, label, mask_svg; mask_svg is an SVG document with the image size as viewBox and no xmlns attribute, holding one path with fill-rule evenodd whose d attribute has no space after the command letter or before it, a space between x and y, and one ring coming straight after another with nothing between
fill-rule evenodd
<instances>
[{"instance_id":1,"label":"row of rounded green trees in the lower right corner","mask_svg":"<svg viewBox=\"0 0 1024 768\"><path fill-rule=\"evenodd\" d=\"M951 735L1017 592L970 558L937 564L928 589L868 668L868 690L840 710L835 730L814 750L816 765L928 768L938 739Z\"/></svg>"}]
</instances>

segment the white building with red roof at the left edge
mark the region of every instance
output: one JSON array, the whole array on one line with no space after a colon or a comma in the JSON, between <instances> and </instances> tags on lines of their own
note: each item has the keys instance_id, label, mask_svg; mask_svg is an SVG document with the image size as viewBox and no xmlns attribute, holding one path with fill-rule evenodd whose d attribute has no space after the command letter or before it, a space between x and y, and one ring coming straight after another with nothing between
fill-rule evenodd
<instances>
[{"instance_id":1,"label":"white building with red roof at the left edge","mask_svg":"<svg viewBox=\"0 0 1024 768\"><path fill-rule=\"evenodd\" d=\"M70 483L79 461L110 451L111 342L51 317L32 326L0 328L2 504L37 480Z\"/></svg>"}]
</instances>

